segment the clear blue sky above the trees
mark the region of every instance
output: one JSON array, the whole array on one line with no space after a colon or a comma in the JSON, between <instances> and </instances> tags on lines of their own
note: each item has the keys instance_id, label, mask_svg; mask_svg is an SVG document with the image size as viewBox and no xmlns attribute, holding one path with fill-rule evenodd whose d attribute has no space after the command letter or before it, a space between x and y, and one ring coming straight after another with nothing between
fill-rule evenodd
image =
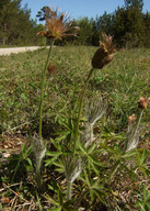
<instances>
[{"instance_id":1,"label":"clear blue sky above the trees","mask_svg":"<svg viewBox=\"0 0 150 211\"><path fill-rule=\"evenodd\" d=\"M35 20L37 12L44 7L60 8L62 12L68 12L71 19L82 16L94 18L102 15L104 11L114 12L117 7L124 5L124 0L22 0L22 8L27 3L31 9L31 18ZM143 12L150 12L150 0L143 0Z\"/></svg>"}]
</instances>

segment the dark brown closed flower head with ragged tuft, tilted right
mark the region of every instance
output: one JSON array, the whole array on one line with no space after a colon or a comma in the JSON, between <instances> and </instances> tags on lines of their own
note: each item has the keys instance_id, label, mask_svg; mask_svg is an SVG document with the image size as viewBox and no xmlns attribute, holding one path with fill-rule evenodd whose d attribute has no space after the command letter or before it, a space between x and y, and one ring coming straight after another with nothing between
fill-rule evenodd
<instances>
[{"instance_id":1,"label":"dark brown closed flower head with ragged tuft, tilted right","mask_svg":"<svg viewBox=\"0 0 150 211\"><path fill-rule=\"evenodd\" d=\"M100 42L100 48L95 52L92 58L93 68L102 69L105 65L111 63L114 58L114 53L116 52L113 45L113 36L102 34L104 42Z\"/></svg>"}]
</instances>

